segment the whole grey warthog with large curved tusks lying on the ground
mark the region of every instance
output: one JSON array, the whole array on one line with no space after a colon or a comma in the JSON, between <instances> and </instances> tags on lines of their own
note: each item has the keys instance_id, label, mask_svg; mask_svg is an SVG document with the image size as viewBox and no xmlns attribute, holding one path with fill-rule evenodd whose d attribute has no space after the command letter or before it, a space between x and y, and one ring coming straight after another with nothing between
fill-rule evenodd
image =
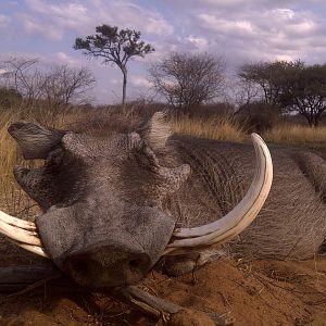
<instances>
[{"instance_id":1,"label":"whole grey warthog with large curved tusks lying on the ground","mask_svg":"<svg viewBox=\"0 0 326 326\"><path fill-rule=\"evenodd\" d=\"M308 259L326 238L326 163L309 151L272 150L264 204L273 166L256 135L255 164L250 145L172 136L160 112L129 130L18 122L9 133L25 159L45 160L14 168L43 214L33 223L1 213L0 229L91 289L137 284L161 256L171 273L185 272L213 244Z\"/></svg>"}]
</instances>

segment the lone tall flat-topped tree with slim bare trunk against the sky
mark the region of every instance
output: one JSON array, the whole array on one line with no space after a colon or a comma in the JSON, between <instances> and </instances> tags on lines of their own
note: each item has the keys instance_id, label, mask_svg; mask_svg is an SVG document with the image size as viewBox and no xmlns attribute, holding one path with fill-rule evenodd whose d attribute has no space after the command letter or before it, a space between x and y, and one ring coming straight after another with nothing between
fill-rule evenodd
<instances>
[{"instance_id":1,"label":"lone tall flat-topped tree with slim bare trunk against the sky","mask_svg":"<svg viewBox=\"0 0 326 326\"><path fill-rule=\"evenodd\" d=\"M154 51L151 45L140 40L140 32L121 29L116 26L101 25L96 27L96 35L75 40L75 50L85 50L84 54L103 58L104 64L113 63L123 74L122 104L125 105L127 87L127 63L133 57L143 58Z\"/></svg>"}]
</instances>

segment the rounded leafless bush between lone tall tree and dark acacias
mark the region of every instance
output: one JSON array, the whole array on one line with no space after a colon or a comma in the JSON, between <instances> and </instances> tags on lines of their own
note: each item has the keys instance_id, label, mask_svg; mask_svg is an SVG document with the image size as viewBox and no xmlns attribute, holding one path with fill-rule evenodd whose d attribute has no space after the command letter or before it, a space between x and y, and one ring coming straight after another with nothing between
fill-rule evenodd
<instances>
[{"instance_id":1,"label":"rounded leafless bush between lone tall tree and dark acacias","mask_svg":"<svg viewBox=\"0 0 326 326\"><path fill-rule=\"evenodd\" d=\"M224 89L224 64L208 53L171 53L149 67L156 91L177 109L213 100Z\"/></svg>"}]
</instances>

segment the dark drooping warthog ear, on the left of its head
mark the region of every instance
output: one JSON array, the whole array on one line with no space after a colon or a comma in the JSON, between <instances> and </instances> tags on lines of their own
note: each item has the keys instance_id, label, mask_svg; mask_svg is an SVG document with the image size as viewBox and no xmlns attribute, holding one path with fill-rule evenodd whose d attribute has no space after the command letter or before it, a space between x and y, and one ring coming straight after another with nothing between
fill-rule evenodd
<instances>
[{"instance_id":1,"label":"dark drooping warthog ear, on the left of its head","mask_svg":"<svg viewBox=\"0 0 326 326\"><path fill-rule=\"evenodd\" d=\"M64 135L64 131L47 129L28 122L13 123L8 131L20 145L25 160L47 159Z\"/></svg>"}]
</instances>

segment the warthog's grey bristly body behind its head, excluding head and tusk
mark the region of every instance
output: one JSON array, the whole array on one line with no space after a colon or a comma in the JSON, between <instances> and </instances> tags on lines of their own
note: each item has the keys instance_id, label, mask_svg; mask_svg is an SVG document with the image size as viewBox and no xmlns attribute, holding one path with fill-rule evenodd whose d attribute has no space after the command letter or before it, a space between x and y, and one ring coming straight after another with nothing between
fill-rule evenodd
<instances>
[{"instance_id":1,"label":"warthog's grey bristly body behind its head, excluding head and tusk","mask_svg":"<svg viewBox=\"0 0 326 326\"><path fill-rule=\"evenodd\" d=\"M171 143L192 171L170 204L179 224L222 217L243 198L254 172L252 146L184 136ZM269 196L254 222L228 247L234 254L255 259L312 258L326 239L326 162L300 149L269 150Z\"/></svg>"}]
</instances>

